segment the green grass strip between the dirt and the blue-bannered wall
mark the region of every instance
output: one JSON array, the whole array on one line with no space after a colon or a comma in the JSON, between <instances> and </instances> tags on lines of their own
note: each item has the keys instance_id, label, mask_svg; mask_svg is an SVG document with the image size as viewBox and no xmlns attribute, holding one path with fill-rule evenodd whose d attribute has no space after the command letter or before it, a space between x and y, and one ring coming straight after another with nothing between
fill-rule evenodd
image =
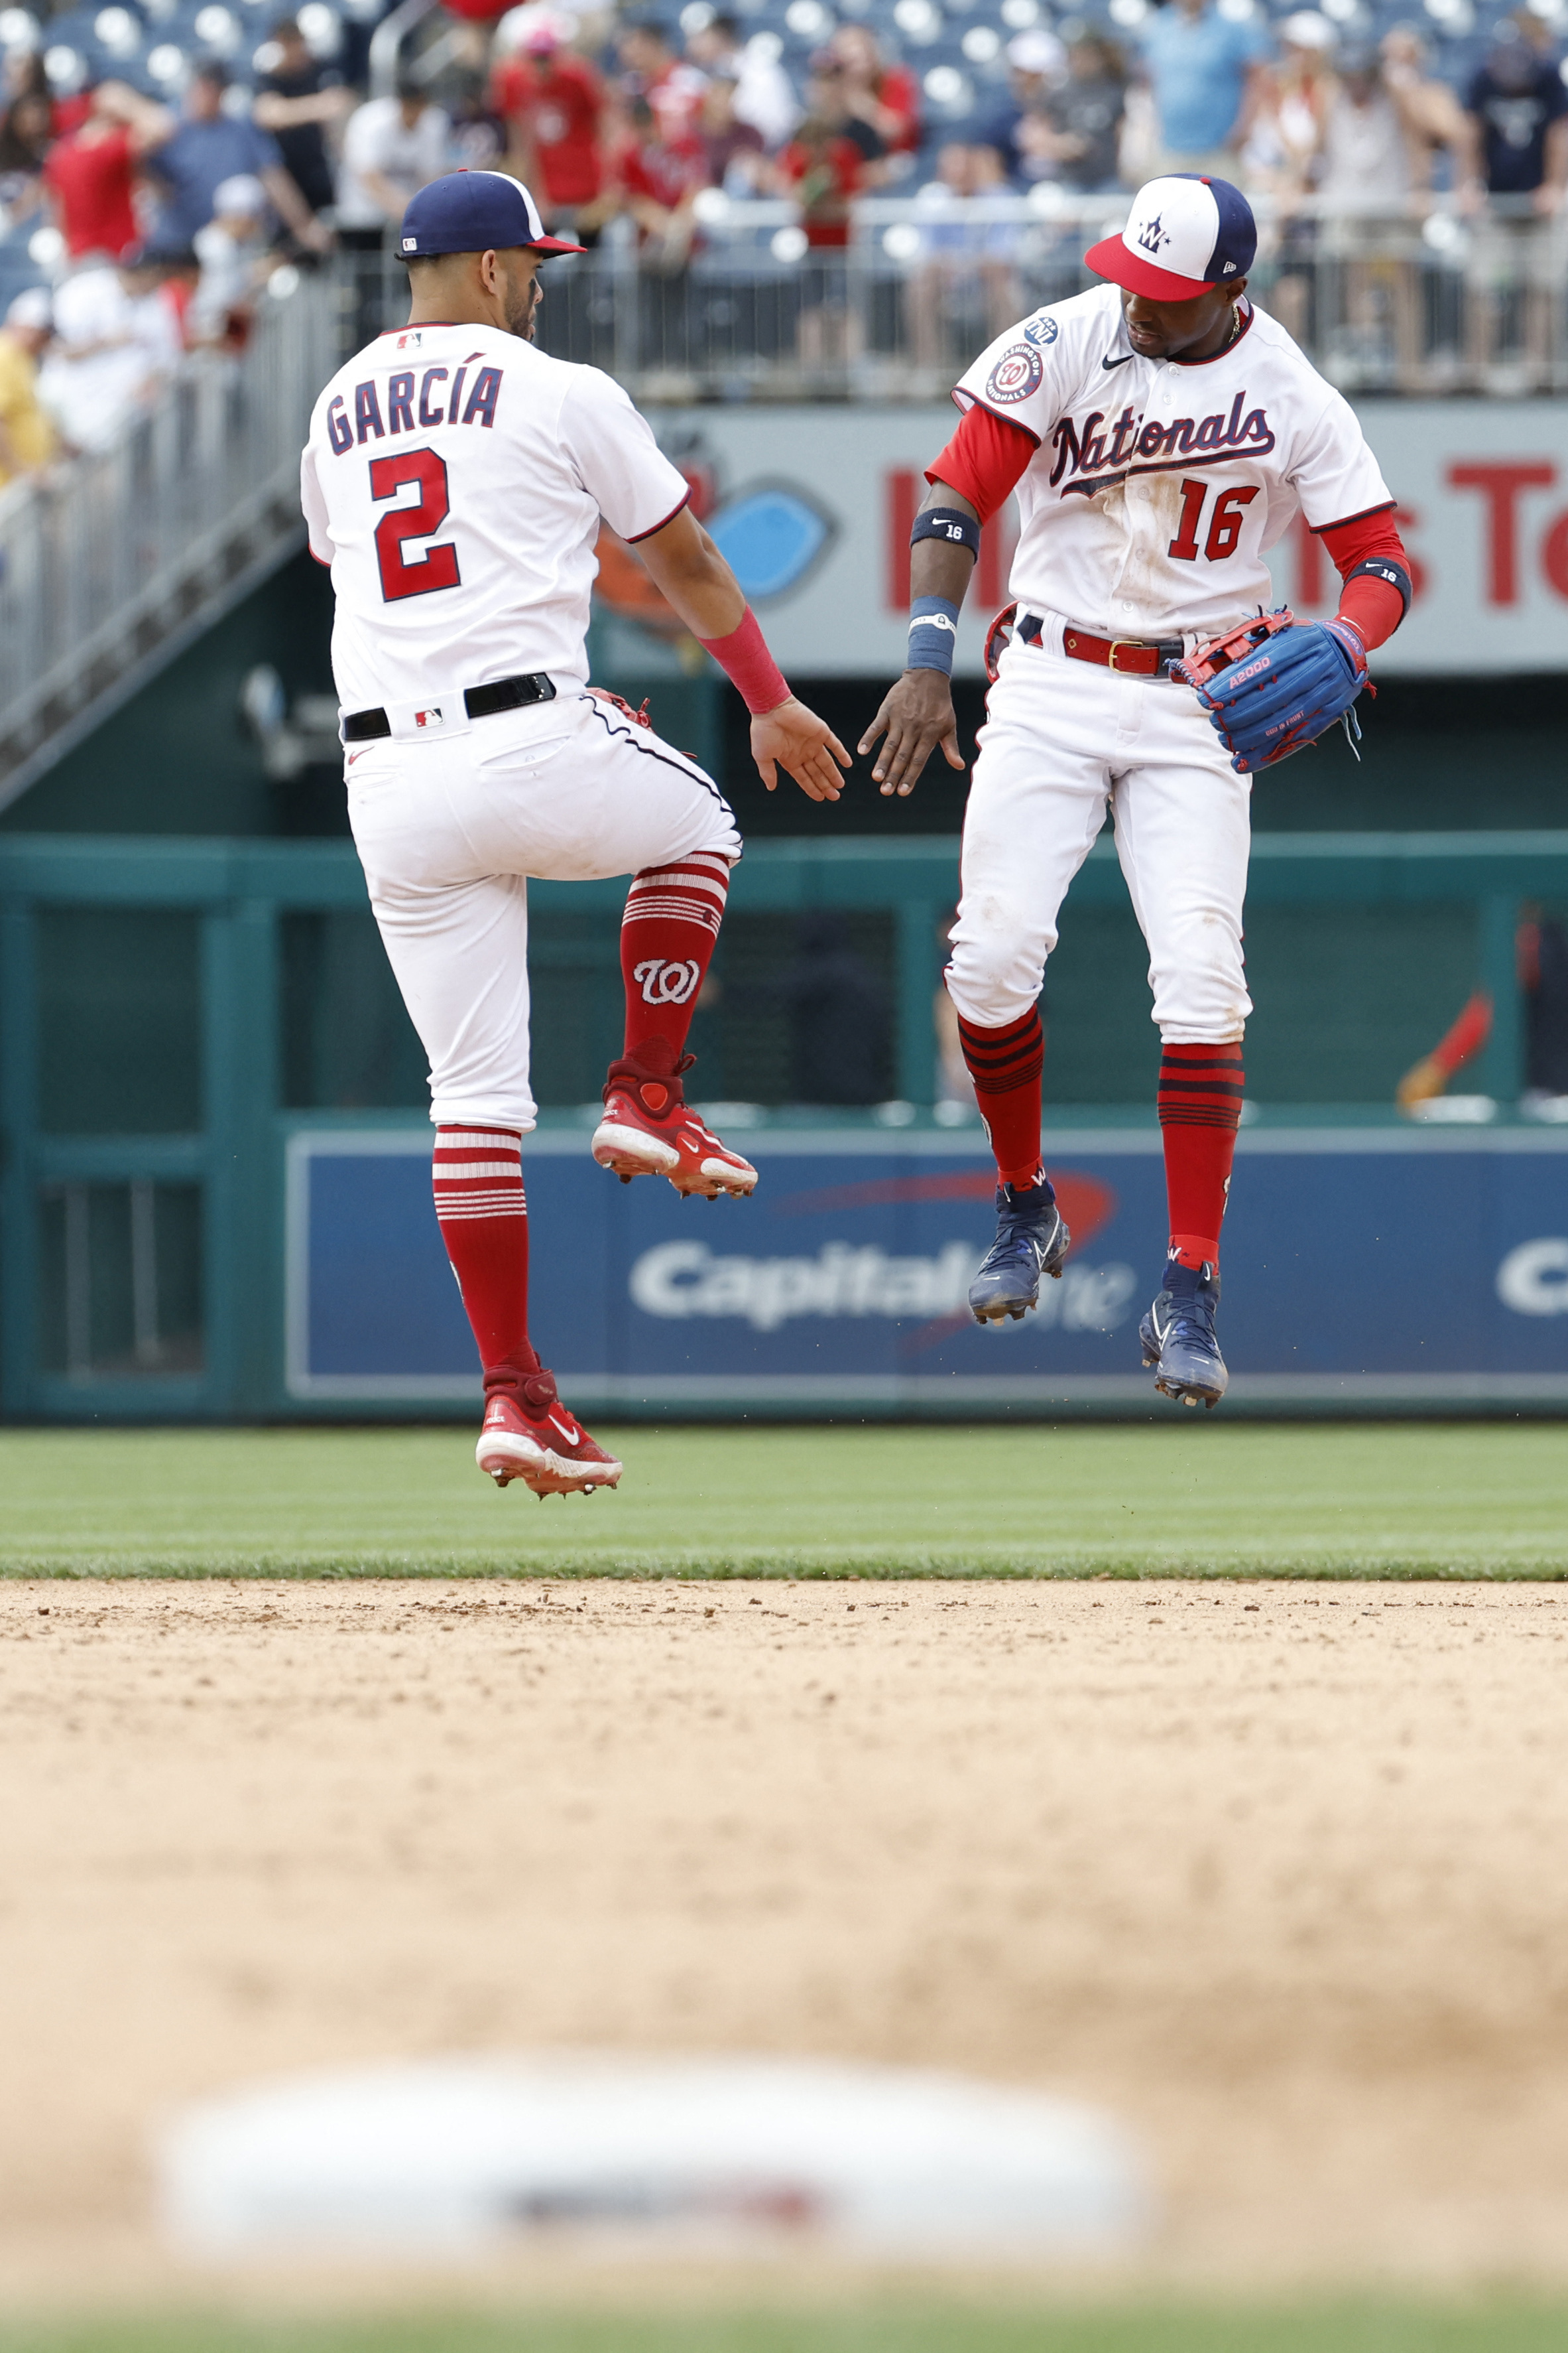
<instances>
[{"instance_id":1,"label":"green grass strip between the dirt and the blue-bannered wall","mask_svg":"<svg viewBox=\"0 0 1568 2353\"><path fill-rule=\"evenodd\" d=\"M7 1431L9 1577L1568 1577L1568 1428L602 1431L616 1494L458 1428Z\"/></svg>"}]
</instances>

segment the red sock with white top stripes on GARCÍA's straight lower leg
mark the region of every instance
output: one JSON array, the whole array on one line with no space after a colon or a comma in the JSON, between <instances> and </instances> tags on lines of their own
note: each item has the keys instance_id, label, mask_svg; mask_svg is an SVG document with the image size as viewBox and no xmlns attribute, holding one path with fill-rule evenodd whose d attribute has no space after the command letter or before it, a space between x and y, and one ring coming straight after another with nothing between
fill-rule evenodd
<instances>
[{"instance_id":1,"label":"red sock with white top stripes on GARC\u00cdA's straight lower leg","mask_svg":"<svg viewBox=\"0 0 1568 2353\"><path fill-rule=\"evenodd\" d=\"M435 1214L484 1365L484 1395L517 1395L538 1358L529 1346L529 1205L522 1136L510 1127L437 1127Z\"/></svg>"}]
</instances>

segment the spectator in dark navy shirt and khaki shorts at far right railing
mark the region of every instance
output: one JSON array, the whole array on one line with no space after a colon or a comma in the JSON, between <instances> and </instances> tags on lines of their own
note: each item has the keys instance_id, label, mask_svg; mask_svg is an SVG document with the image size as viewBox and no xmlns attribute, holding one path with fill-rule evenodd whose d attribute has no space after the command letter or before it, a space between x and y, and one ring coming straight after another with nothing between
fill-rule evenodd
<instances>
[{"instance_id":1,"label":"spectator in dark navy shirt and khaki shorts at far right railing","mask_svg":"<svg viewBox=\"0 0 1568 2353\"><path fill-rule=\"evenodd\" d=\"M1481 212L1469 245L1469 360L1497 355L1502 299L1521 296L1523 367L1544 386L1561 301L1552 216L1568 186L1568 89L1540 52L1505 26L1465 92L1469 169L1465 205Z\"/></svg>"}]
</instances>

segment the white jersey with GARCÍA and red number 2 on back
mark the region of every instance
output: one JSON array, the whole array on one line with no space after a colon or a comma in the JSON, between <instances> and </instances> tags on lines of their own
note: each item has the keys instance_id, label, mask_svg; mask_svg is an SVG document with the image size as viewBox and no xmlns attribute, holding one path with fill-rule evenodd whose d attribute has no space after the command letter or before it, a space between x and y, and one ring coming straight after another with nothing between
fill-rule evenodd
<instances>
[{"instance_id":1,"label":"white jersey with GARC\u00cdA and red number 2 on back","mask_svg":"<svg viewBox=\"0 0 1568 2353\"><path fill-rule=\"evenodd\" d=\"M315 402L301 459L339 701L440 704L531 671L583 687L599 518L646 539L686 496L597 367L501 327L378 334Z\"/></svg>"}]
</instances>

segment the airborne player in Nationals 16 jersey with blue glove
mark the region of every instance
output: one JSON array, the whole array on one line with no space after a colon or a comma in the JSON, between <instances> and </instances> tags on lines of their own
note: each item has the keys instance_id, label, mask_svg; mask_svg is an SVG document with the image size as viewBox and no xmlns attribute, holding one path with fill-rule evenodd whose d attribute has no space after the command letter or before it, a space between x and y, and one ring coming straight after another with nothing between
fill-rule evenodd
<instances>
[{"instance_id":1,"label":"airborne player in Nationals 16 jersey with blue glove","mask_svg":"<svg viewBox=\"0 0 1568 2353\"><path fill-rule=\"evenodd\" d=\"M1157 1386L1218 1405L1220 1219L1241 1118L1251 772L1352 704L1410 602L1394 501L1347 402L1246 299L1239 188L1171 174L1086 256L1110 280L1001 334L954 391L910 558L910 656L860 751L912 791L961 767L952 645L980 525L1018 492L1011 642L964 816L947 988L997 1155L997 1240L969 1304L1023 1315L1067 1226L1039 1158L1037 995L1067 885L1110 807L1150 948L1171 1240L1140 1339ZM1265 614L1295 513L1342 576L1333 621ZM992 642L1004 633L992 633Z\"/></svg>"}]
</instances>

